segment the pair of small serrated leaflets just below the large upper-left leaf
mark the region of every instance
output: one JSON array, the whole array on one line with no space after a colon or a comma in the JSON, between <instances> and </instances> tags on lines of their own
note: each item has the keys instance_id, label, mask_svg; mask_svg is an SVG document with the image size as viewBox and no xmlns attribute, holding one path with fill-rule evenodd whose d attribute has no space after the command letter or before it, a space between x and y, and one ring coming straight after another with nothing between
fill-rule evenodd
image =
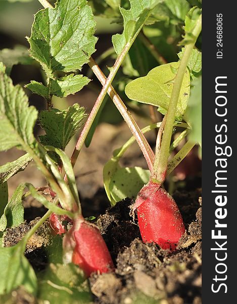
<instances>
[{"instance_id":1,"label":"pair of small serrated leaflets just below the large upper-left leaf","mask_svg":"<svg viewBox=\"0 0 237 304\"><path fill-rule=\"evenodd\" d=\"M80 91L86 86L90 80L82 75L69 74L65 77L52 80L49 87L45 87L43 84L36 81L31 81L30 84L25 87L31 90L33 93L49 98L49 95L56 95L58 97L66 97L70 94L74 94Z\"/></svg>"}]
</instances>

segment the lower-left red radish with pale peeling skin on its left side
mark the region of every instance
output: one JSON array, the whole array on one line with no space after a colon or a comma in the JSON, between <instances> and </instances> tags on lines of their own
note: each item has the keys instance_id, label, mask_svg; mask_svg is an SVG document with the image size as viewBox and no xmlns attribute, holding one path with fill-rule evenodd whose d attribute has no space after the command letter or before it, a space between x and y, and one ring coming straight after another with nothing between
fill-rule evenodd
<instances>
[{"instance_id":1,"label":"lower-left red radish with pale peeling skin on its left side","mask_svg":"<svg viewBox=\"0 0 237 304\"><path fill-rule=\"evenodd\" d=\"M73 226L63 239L64 260L79 265L87 277L92 272L107 273L114 264L106 243L96 225L82 216L73 221Z\"/></svg>"}]
</instances>

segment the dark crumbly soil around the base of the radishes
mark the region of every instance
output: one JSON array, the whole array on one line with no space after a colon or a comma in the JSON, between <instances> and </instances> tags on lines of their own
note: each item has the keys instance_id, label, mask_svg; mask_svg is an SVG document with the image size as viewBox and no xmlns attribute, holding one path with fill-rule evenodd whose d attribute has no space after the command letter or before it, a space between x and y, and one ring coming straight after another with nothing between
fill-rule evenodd
<instances>
[{"instance_id":1,"label":"dark crumbly soil around the base of the radishes","mask_svg":"<svg viewBox=\"0 0 237 304\"><path fill-rule=\"evenodd\" d=\"M136 219L129 215L131 200L119 202L97 218L96 224L108 245L116 269L115 273L94 274L89 278L94 303L201 304L200 195L199 189L189 193L176 191L173 195L186 227L186 233L173 253L160 249L156 244L144 244L141 241ZM105 209L106 205L102 201L101 207ZM98 210L94 211L96 215L100 204L98 199ZM4 239L5 246L19 242L37 220L29 223L25 221L16 229L9 229ZM36 272L48 265L48 252L52 246L55 246L55 237L51 235L46 222L27 245L26 256ZM18 289L12 294L11 303L37 301Z\"/></svg>"}]
</instances>

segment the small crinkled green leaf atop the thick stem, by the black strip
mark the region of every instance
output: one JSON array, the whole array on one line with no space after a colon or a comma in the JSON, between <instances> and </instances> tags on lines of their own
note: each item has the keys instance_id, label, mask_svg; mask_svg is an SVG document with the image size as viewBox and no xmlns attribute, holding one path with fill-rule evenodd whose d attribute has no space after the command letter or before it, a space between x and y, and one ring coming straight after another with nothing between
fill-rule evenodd
<instances>
[{"instance_id":1,"label":"small crinkled green leaf atop the thick stem, by the black strip","mask_svg":"<svg viewBox=\"0 0 237 304\"><path fill-rule=\"evenodd\" d=\"M188 14L185 17L185 34L183 40L179 43L179 45L187 45L196 41L197 37L193 34L193 30L201 14L201 10L197 7L193 7L191 10L189 10Z\"/></svg>"}]
</instances>

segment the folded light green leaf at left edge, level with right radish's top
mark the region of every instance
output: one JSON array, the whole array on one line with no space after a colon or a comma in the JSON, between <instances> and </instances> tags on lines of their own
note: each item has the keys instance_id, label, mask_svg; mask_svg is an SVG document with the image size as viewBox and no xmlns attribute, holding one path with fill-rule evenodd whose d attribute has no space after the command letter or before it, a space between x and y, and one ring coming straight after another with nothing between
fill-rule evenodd
<instances>
[{"instance_id":1,"label":"folded light green leaf at left edge, level with right radish's top","mask_svg":"<svg viewBox=\"0 0 237 304\"><path fill-rule=\"evenodd\" d=\"M7 227L17 227L24 222L24 207L22 203L24 188L24 183L19 184L11 200L6 205L4 214L0 218L0 231L4 231Z\"/></svg>"}]
</instances>

